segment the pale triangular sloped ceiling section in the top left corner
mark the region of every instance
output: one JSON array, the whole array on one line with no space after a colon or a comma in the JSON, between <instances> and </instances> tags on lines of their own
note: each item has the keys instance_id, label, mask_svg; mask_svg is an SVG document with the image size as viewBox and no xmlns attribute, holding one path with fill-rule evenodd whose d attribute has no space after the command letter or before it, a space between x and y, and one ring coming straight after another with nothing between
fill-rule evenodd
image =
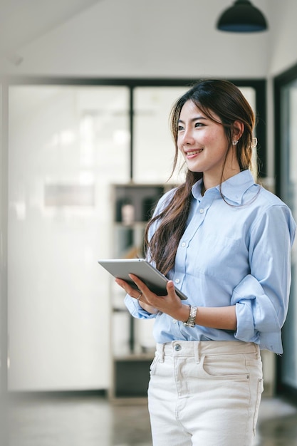
<instances>
[{"instance_id":1,"label":"pale triangular sloped ceiling section in the top left corner","mask_svg":"<svg viewBox=\"0 0 297 446\"><path fill-rule=\"evenodd\" d=\"M108 0L0 0L0 51L14 53L99 1Z\"/></svg>"}]
</instances>

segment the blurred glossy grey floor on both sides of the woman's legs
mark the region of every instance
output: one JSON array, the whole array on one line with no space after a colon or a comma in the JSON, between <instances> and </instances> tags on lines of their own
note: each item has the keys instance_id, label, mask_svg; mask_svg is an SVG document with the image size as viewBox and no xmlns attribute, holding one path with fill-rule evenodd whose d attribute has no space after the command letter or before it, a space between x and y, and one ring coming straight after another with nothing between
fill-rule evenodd
<instances>
[{"instance_id":1,"label":"blurred glossy grey floor on both sides of the woman's legs","mask_svg":"<svg viewBox=\"0 0 297 446\"><path fill-rule=\"evenodd\" d=\"M152 445L146 403L110 403L94 395L18 399L10 403L8 425L9 446ZM297 446L297 407L263 398L254 445Z\"/></svg>"}]
</instances>

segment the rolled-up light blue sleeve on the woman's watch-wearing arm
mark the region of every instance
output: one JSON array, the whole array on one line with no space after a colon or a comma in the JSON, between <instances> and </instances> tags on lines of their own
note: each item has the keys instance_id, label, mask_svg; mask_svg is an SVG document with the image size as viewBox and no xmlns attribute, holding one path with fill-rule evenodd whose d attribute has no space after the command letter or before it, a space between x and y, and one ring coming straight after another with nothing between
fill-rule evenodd
<instances>
[{"instance_id":1,"label":"rolled-up light blue sleeve on the woman's watch-wearing arm","mask_svg":"<svg viewBox=\"0 0 297 446\"><path fill-rule=\"evenodd\" d=\"M283 353L281 327L288 311L291 246L296 224L286 206L264 209L251 228L249 275L234 288L235 338Z\"/></svg>"}]
</instances>

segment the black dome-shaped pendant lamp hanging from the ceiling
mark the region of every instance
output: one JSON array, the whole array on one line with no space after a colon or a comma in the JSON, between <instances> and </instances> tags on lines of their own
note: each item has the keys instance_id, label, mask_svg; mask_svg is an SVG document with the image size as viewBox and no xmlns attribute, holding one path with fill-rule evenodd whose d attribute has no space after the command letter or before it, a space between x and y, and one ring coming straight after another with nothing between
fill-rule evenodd
<instances>
[{"instance_id":1,"label":"black dome-shaped pendant lamp hanging from the ceiling","mask_svg":"<svg viewBox=\"0 0 297 446\"><path fill-rule=\"evenodd\" d=\"M219 17L217 29L232 33L255 33L265 31L267 22L261 11L249 0L237 0Z\"/></svg>"}]
</instances>

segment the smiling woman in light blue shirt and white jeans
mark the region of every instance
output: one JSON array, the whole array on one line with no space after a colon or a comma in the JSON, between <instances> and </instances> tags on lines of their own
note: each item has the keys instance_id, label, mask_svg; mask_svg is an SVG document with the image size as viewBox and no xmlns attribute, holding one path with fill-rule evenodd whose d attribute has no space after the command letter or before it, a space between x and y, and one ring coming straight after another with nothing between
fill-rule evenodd
<instances>
[{"instance_id":1,"label":"smiling woman in light blue shirt and white jeans","mask_svg":"<svg viewBox=\"0 0 297 446\"><path fill-rule=\"evenodd\" d=\"M148 401L155 446L249 446L263 390L260 349L282 353L296 224L257 185L254 113L228 81L206 80L175 103L184 184L147 226L147 258L167 275L157 296L136 276L132 316L156 318ZM174 292L181 289L187 301Z\"/></svg>"}]
</instances>

